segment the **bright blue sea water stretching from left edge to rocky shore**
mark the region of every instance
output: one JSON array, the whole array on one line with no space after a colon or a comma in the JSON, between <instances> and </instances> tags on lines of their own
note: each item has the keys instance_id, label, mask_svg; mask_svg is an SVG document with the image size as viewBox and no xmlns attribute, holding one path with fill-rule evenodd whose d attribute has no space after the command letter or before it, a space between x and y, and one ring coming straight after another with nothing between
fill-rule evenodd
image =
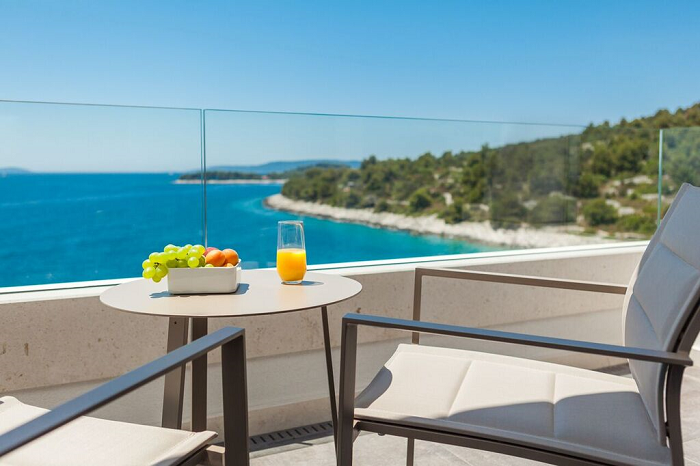
<instances>
[{"instance_id":1,"label":"bright blue sea water stretching from left edge to rocky shore","mask_svg":"<svg viewBox=\"0 0 700 466\"><path fill-rule=\"evenodd\" d=\"M0 178L0 287L134 277L152 251L203 242L202 189L167 174L41 174ZM246 268L274 266L277 222L300 218L309 264L491 250L437 236L277 212L276 185L207 186L211 246Z\"/></svg>"}]
</instances>

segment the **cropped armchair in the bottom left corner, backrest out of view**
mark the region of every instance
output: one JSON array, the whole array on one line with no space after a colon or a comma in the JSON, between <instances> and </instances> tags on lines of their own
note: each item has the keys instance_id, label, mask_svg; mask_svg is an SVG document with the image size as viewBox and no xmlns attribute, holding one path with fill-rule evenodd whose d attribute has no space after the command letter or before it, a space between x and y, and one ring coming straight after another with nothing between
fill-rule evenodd
<instances>
[{"instance_id":1,"label":"cropped armchair in the bottom left corner, backrest out of view","mask_svg":"<svg viewBox=\"0 0 700 466\"><path fill-rule=\"evenodd\" d=\"M187 432L83 417L221 347L225 449L215 432ZM227 327L47 411L0 398L0 465L248 465L245 331Z\"/></svg>"}]
</instances>

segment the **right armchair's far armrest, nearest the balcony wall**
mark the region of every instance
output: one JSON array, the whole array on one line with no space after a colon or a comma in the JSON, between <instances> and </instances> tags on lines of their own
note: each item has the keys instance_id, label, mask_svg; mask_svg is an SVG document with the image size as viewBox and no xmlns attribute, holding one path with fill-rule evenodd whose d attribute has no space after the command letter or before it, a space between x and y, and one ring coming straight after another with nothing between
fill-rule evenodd
<instances>
[{"instance_id":1,"label":"right armchair's far armrest, nearest the balcony wall","mask_svg":"<svg viewBox=\"0 0 700 466\"><path fill-rule=\"evenodd\" d=\"M481 272L476 270L428 269L417 267L416 281L419 281L424 276L456 278L480 282L508 283L511 285L539 286L544 288L560 288L565 290L593 291L596 293L625 294L627 292L627 285L613 283L533 277L529 275Z\"/></svg>"}]
</instances>

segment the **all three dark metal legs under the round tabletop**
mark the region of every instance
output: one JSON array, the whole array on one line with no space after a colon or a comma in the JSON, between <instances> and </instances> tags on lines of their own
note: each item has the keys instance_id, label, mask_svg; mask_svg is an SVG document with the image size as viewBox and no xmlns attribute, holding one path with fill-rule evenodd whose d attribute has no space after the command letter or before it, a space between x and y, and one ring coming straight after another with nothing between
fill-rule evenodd
<instances>
[{"instance_id":1,"label":"all three dark metal legs under the round tabletop","mask_svg":"<svg viewBox=\"0 0 700 466\"><path fill-rule=\"evenodd\" d=\"M168 352L187 344L189 318L171 317L168 323ZM333 440L337 442L338 432L338 402L335 394L335 379L333 377L333 353L331 352L331 337L328 328L328 308L321 307L323 324L323 347L326 356L326 375L328 377L328 394L333 421ZM208 320L206 317L192 319L192 340L207 334ZM185 387L184 367L176 369L165 376L163 390L163 427L171 429L182 428L182 410ZM207 356L192 361L192 431L201 432L207 429Z\"/></svg>"}]
</instances>

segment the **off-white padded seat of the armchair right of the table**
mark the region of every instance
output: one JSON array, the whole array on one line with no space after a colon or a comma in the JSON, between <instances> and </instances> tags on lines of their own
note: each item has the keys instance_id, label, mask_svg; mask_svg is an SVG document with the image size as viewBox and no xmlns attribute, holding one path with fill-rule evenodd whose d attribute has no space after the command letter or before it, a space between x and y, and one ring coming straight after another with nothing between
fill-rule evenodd
<instances>
[{"instance_id":1,"label":"off-white padded seat of the armchair right of the table","mask_svg":"<svg viewBox=\"0 0 700 466\"><path fill-rule=\"evenodd\" d=\"M623 464L671 461L633 379L474 351L400 345L358 396L355 418Z\"/></svg>"}]
</instances>

